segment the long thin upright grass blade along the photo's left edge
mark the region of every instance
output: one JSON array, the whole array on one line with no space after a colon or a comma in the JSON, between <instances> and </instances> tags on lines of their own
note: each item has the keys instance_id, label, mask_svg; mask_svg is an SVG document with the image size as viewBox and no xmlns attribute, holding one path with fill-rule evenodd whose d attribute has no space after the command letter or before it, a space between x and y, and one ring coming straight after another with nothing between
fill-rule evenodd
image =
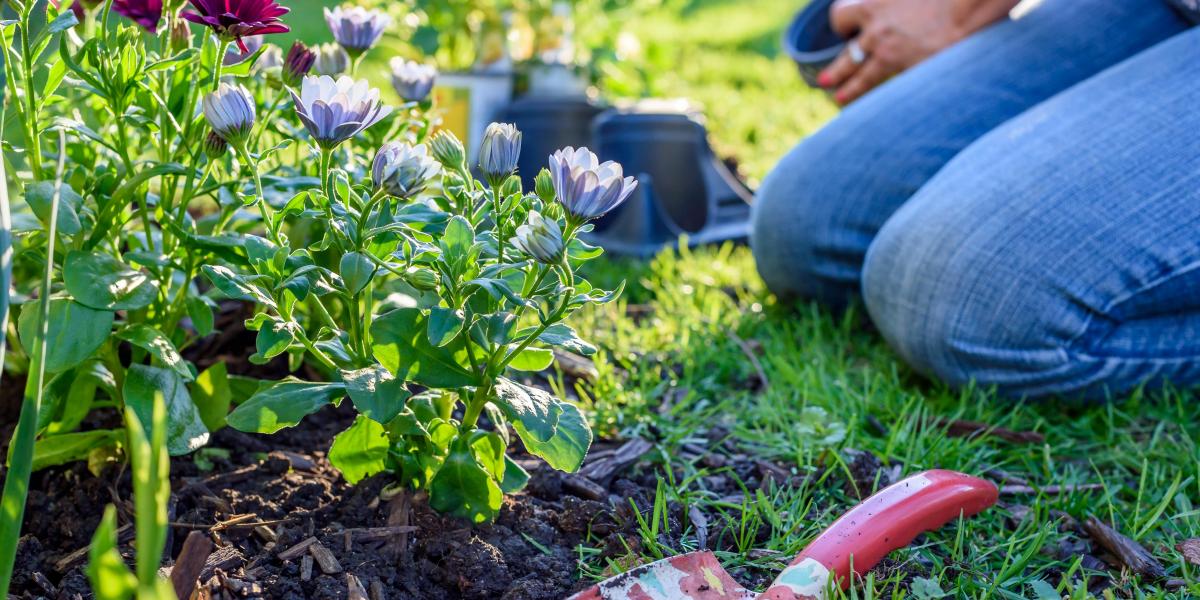
<instances>
[{"instance_id":1,"label":"long thin upright grass blade along the photo's left edge","mask_svg":"<svg viewBox=\"0 0 1200 600\"><path fill-rule=\"evenodd\" d=\"M46 336L49 331L50 280L54 277L54 241L58 238L59 196L62 190L62 172L66 167L66 132L59 130L59 166L54 179L54 197L50 202L50 218L46 236L46 274L37 305L37 336L29 349L30 374L25 382L25 396L20 403L20 418L12 436L12 455L8 475L4 481L4 498L0 499L0 598L8 596L12 582L12 565L17 557L17 541L25 517L25 499L29 497L29 476L34 468L34 439L37 436L37 414L42 410L42 394L46 390Z\"/></svg>"}]
</instances>

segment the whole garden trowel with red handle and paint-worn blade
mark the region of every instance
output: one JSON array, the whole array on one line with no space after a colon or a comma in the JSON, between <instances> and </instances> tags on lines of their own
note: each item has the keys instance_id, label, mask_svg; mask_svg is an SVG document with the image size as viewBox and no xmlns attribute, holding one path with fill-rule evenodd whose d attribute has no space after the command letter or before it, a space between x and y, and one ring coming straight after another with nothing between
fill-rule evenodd
<instances>
[{"instance_id":1,"label":"whole garden trowel with red handle and paint-worn blade","mask_svg":"<svg viewBox=\"0 0 1200 600\"><path fill-rule=\"evenodd\" d=\"M709 551L689 552L602 581L568 600L823 600L917 535L996 503L996 486L952 470L926 470L863 500L817 535L758 594L739 586Z\"/></svg>"}]
</instances>

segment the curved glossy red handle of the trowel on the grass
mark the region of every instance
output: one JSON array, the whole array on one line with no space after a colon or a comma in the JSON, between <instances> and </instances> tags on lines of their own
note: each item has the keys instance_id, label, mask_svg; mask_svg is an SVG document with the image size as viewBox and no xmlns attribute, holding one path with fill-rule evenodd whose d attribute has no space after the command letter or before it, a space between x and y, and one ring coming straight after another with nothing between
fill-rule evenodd
<instances>
[{"instance_id":1,"label":"curved glossy red handle of the trowel on the grass","mask_svg":"<svg viewBox=\"0 0 1200 600\"><path fill-rule=\"evenodd\" d=\"M824 598L829 577L842 589L917 535L996 503L990 481L953 470L926 470L881 490L835 521L767 588L763 600Z\"/></svg>"}]
</instances>

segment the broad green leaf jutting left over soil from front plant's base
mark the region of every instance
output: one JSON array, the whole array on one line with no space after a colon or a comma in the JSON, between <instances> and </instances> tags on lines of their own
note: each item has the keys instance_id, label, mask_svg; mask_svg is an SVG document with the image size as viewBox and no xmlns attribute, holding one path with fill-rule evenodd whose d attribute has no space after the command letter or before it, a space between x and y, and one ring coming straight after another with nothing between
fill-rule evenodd
<instances>
[{"instance_id":1,"label":"broad green leaf jutting left over soil from front plant's base","mask_svg":"<svg viewBox=\"0 0 1200 600\"><path fill-rule=\"evenodd\" d=\"M238 431L275 433L283 427L294 427L329 403L341 402L344 395L346 385L340 383L301 382L289 377L258 390L229 413L226 422Z\"/></svg>"}]
</instances>

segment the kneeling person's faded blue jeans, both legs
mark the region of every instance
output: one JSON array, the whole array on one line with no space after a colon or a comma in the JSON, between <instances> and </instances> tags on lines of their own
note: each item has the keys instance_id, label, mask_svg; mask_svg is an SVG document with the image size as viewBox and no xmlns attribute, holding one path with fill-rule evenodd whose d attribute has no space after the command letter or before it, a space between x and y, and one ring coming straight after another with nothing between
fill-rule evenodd
<instances>
[{"instance_id":1,"label":"kneeling person's faded blue jeans, both legs","mask_svg":"<svg viewBox=\"0 0 1200 600\"><path fill-rule=\"evenodd\" d=\"M1045 0L892 79L755 204L781 295L858 298L918 371L1009 396L1200 382L1200 28Z\"/></svg>"}]
</instances>

